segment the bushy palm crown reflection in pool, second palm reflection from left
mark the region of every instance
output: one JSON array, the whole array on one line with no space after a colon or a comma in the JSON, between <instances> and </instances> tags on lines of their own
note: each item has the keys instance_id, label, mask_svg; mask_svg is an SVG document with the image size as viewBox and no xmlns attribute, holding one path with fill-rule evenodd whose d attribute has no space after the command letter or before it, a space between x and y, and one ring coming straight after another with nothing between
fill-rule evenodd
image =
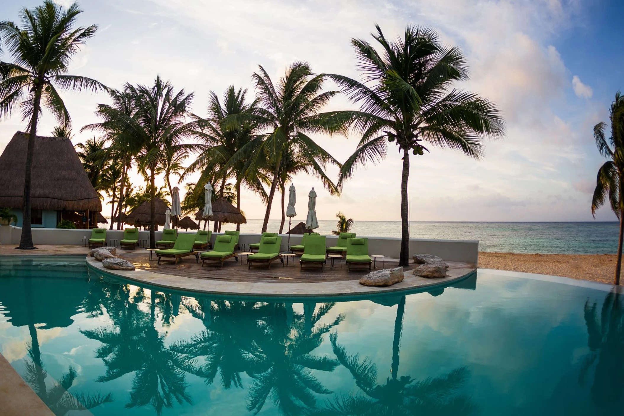
<instances>
[{"instance_id":1,"label":"bushy palm crown reflection in pool, second palm reflection from left","mask_svg":"<svg viewBox=\"0 0 624 416\"><path fill-rule=\"evenodd\" d=\"M180 356L165 348L166 334L155 329L157 294L150 295L150 311L139 308L137 300L144 301L141 290L134 295L123 286L106 298L105 308L113 325L92 331L80 331L86 337L102 342L96 357L106 365L106 374L99 382L117 379L134 373L130 401L126 407L152 405L157 414L163 407L172 407L174 400L191 402Z\"/></svg>"}]
</instances>

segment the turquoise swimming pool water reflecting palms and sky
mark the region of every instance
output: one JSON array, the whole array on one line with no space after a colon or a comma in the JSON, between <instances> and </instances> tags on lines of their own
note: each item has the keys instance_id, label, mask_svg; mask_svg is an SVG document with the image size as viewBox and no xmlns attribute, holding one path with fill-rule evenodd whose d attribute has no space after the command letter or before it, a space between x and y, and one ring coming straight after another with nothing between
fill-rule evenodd
<instances>
[{"instance_id":1,"label":"turquoise swimming pool water reflecting palms and sky","mask_svg":"<svg viewBox=\"0 0 624 416\"><path fill-rule=\"evenodd\" d=\"M59 415L622 415L624 299L600 287L243 301L0 258L0 352Z\"/></svg>"}]
</instances>

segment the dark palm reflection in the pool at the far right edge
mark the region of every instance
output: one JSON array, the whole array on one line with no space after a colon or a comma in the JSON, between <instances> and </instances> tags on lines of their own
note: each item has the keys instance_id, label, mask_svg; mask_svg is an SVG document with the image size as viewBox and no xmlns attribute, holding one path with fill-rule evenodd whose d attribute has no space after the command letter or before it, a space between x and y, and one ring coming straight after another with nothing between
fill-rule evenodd
<instances>
[{"instance_id":1,"label":"dark palm reflection in the pool at the far right edge","mask_svg":"<svg viewBox=\"0 0 624 416\"><path fill-rule=\"evenodd\" d=\"M597 304L585 302L585 325L590 353L582 362L578 382L581 385L593 372L590 389L592 402L600 407L621 409L624 397L624 299L609 293L598 316ZM595 365L594 365L595 364Z\"/></svg>"}]
</instances>

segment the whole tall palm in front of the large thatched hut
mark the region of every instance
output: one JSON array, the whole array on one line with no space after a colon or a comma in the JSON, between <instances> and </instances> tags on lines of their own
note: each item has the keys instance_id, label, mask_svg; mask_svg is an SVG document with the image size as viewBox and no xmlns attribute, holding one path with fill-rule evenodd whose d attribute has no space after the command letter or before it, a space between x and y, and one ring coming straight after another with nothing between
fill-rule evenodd
<instances>
[{"instance_id":1,"label":"whole tall palm in front of the large thatched hut","mask_svg":"<svg viewBox=\"0 0 624 416\"><path fill-rule=\"evenodd\" d=\"M75 28L80 14L77 3L63 9L52 0L42 6L22 9L21 24L0 22L0 36L13 62L0 61L0 117L21 108L22 119L29 120L24 173L24 208L19 249L34 249L31 231L31 173L37 122L42 107L51 110L57 122L69 127L71 118L57 87L69 90L105 89L94 79L67 75L72 56L97 26ZM24 97L26 94L26 97Z\"/></svg>"}]
</instances>

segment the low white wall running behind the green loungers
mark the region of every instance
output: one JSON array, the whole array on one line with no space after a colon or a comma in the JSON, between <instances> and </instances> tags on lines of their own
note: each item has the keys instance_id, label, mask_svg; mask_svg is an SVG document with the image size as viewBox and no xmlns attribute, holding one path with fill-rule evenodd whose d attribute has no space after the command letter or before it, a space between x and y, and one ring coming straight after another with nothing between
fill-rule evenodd
<instances>
[{"instance_id":1,"label":"low white wall running behind the green loungers","mask_svg":"<svg viewBox=\"0 0 624 416\"><path fill-rule=\"evenodd\" d=\"M19 244L21 228L14 226L0 226L0 244ZM181 231L183 233L183 231ZM195 231L189 233L195 234ZM139 239L149 239L149 231L139 231ZM213 233L212 242L215 237L222 233ZM68 244L79 245L83 237L87 239L91 236L91 230L60 230L56 228L37 228L32 230L32 240L35 244ZM160 239L162 231L156 232L156 239ZM258 243L260 234L241 234L238 239L241 248L248 249L248 244ZM124 238L124 231L107 230L106 239L108 244L112 244L111 239L120 240ZM300 235L290 236L290 245L301 244ZM333 246L338 240L337 236L327 236L327 245ZM399 257L401 240L391 237L369 237L368 251L370 254L383 254L391 258ZM281 235L281 249L288 249L288 235ZM409 255L413 254L434 254L448 261L465 261L466 263L477 263L479 259L479 241L477 240L452 240L452 239L420 239L409 240Z\"/></svg>"}]
</instances>

